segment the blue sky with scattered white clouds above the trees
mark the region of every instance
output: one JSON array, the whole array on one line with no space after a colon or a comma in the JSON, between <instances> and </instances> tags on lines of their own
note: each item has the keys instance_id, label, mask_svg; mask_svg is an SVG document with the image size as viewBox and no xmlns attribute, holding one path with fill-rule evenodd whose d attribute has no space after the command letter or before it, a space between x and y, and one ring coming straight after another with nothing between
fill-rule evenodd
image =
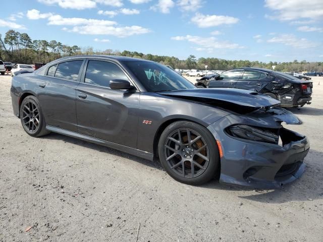
<instances>
[{"instance_id":1,"label":"blue sky with scattered white clouds above the trees","mask_svg":"<svg viewBox=\"0 0 323 242\"><path fill-rule=\"evenodd\" d=\"M322 0L28 0L0 33L186 59L323 61Z\"/></svg>"}]
</instances>

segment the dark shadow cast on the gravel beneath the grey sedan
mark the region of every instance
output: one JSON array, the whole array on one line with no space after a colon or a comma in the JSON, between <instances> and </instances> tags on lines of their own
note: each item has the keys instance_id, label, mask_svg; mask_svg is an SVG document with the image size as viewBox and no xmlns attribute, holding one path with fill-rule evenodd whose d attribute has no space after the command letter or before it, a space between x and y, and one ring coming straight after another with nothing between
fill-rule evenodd
<instances>
[{"instance_id":1,"label":"dark shadow cast on the gravel beneath the grey sedan","mask_svg":"<svg viewBox=\"0 0 323 242\"><path fill-rule=\"evenodd\" d=\"M161 167L158 159L154 159L153 161L146 160L109 147L93 144L87 141L79 140L76 138L56 133L51 133L50 135L45 136L44 138L51 140L62 140L63 142L79 145L84 148L97 150L99 152L104 152L110 155L120 156L139 162L143 165L150 166L155 169L164 170L163 167ZM317 162L317 160L320 160L321 157L323 157L323 152L310 150L307 157L305 158L306 169L302 177L300 177L291 184L283 186L282 189L259 190L240 186L226 185L219 183L218 178L214 178L211 181L209 181L209 183L197 187L215 190L225 190L228 192L233 191L236 193L252 192L252 195L238 195L238 197L241 199L252 200L261 203L285 203L288 201L307 201L323 199L323 166L319 165L319 162Z\"/></svg>"}]
</instances>

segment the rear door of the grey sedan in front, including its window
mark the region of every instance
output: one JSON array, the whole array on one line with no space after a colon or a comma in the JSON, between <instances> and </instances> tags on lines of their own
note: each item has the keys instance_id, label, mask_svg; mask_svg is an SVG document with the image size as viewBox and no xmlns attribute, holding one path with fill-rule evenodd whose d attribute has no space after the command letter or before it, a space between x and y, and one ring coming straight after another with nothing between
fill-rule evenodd
<instances>
[{"instance_id":1,"label":"rear door of the grey sedan in front, including its window","mask_svg":"<svg viewBox=\"0 0 323 242\"><path fill-rule=\"evenodd\" d=\"M77 132L75 90L84 63L85 59L77 59L52 65L38 81L46 125Z\"/></svg>"}]
</instances>

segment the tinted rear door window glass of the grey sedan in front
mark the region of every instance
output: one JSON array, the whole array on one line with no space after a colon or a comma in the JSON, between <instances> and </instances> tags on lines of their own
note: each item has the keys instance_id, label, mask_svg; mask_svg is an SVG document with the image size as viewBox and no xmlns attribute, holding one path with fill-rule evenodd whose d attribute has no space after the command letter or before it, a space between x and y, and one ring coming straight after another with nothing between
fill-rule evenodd
<instances>
[{"instance_id":1,"label":"tinted rear door window glass of the grey sedan in front","mask_svg":"<svg viewBox=\"0 0 323 242\"><path fill-rule=\"evenodd\" d=\"M63 62L58 65L55 77L64 78L71 81L77 81L82 61Z\"/></svg>"}]
</instances>

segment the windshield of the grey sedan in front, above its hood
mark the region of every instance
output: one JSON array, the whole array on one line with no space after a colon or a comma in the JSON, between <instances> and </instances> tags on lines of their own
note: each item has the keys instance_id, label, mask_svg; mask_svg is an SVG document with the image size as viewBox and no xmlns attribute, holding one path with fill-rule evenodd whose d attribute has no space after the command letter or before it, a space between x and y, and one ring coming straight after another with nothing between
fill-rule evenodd
<instances>
[{"instance_id":1,"label":"windshield of the grey sedan in front, above its hood","mask_svg":"<svg viewBox=\"0 0 323 242\"><path fill-rule=\"evenodd\" d=\"M148 92L196 88L170 68L153 62L124 62Z\"/></svg>"}]
</instances>

